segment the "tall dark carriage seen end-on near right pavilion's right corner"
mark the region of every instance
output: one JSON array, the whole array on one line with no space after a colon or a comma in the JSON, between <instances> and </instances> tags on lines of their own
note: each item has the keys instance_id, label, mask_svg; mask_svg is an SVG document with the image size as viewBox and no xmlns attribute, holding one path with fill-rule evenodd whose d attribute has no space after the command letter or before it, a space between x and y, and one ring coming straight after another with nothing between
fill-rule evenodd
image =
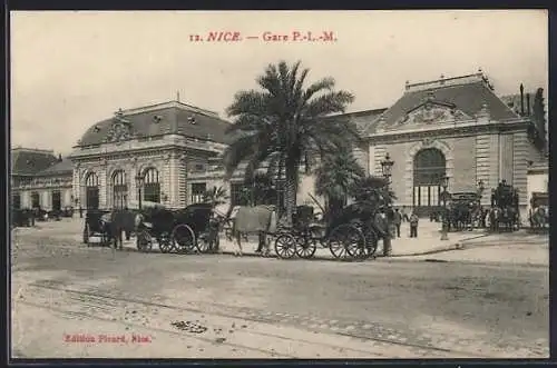
<instances>
[{"instance_id":1,"label":"tall dark carriage seen end-on near right pavilion's right corner","mask_svg":"<svg viewBox=\"0 0 557 368\"><path fill-rule=\"evenodd\" d=\"M505 180L491 190L491 210L489 222L491 231L500 231L501 225L508 231L520 228L518 191Z\"/></svg>"}]
</instances>

